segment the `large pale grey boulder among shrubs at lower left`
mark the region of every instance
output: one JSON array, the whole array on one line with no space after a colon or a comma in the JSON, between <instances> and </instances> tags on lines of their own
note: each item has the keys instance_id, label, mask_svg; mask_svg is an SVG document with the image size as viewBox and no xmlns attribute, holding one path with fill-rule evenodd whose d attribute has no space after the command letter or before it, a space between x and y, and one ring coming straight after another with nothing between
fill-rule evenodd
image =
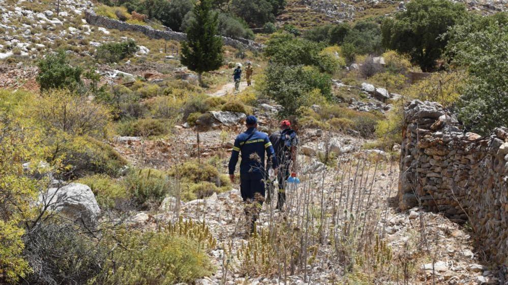
<instances>
[{"instance_id":1,"label":"large pale grey boulder among shrubs at lower left","mask_svg":"<svg viewBox=\"0 0 508 285\"><path fill-rule=\"evenodd\" d=\"M49 205L49 209L72 218L95 220L101 209L92 189L80 183L70 183L61 187L49 188L45 195L39 197L41 205Z\"/></svg>"}]
</instances>

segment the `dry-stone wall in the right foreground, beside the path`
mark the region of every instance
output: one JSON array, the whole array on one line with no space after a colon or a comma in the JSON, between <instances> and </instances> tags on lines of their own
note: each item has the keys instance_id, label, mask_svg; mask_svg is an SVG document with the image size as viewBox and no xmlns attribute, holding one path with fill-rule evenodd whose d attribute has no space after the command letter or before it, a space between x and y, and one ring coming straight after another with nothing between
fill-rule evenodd
<instances>
[{"instance_id":1,"label":"dry-stone wall in the right foreground, beside the path","mask_svg":"<svg viewBox=\"0 0 508 285\"><path fill-rule=\"evenodd\" d=\"M469 220L480 249L508 264L508 129L487 137L463 133L434 102L404 109L399 206L421 205Z\"/></svg>"}]
</instances>

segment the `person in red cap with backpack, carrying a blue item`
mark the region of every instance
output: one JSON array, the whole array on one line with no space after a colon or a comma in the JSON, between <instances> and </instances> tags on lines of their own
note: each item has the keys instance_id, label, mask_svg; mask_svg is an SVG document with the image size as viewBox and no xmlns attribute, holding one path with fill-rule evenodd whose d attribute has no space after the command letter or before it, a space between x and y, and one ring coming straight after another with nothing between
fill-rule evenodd
<instances>
[{"instance_id":1,"label":"person in red cap with backpack, carrying a blue item","mask_svg":"<svg viewBox=\"0 0 508 285\"><path fill-rule=\"evenodd\" d=\"M279 162L279 171L277 175L279 184L277 209L279 211L284 211L284 203L286 202L286 180L291 173L296 173L296 146L298 145L298 136L296 132L291 129L291 122L289 120L281 121L280 128L280 131L270 135L270 141L274 146L275 156ZM272 199L272 194L271 188L269 188L266 197L268 201Z\"/></svg>"}]
</instances>

